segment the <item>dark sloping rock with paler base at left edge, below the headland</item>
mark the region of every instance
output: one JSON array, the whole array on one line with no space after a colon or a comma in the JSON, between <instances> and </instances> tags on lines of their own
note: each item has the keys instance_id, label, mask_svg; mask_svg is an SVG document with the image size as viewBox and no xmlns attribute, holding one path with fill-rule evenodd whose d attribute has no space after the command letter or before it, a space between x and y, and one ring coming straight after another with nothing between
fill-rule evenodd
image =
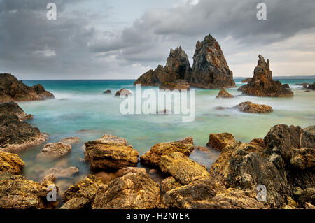
<instances>
[{"instance_id":1,"label":"dark sloping rock with paler base at left edge, below the headland","mask_svg":"<svg viewBox=\"0 0 315 223\"><path fill-rule=\"evenodd\" d=\"M31 127L13 113L0 113L0 150L18 152L41 145L48 138L38 128Z\"/></svg>"}]
</instances>

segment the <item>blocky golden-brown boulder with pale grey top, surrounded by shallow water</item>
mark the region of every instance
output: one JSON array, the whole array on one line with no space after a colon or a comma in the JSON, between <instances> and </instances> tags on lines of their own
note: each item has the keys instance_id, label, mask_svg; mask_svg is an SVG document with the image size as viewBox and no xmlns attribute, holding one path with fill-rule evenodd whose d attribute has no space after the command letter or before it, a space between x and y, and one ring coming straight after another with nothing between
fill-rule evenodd
<instances>
[{"instance_id":1,"label":"blocky golden-brown boulder with pale grey top, surrounded by shallow water","mask_svg":"<svg viewBox=\"0 0 315 223\"><path fill-rule=\"evenodd\" d=\"M120 169L137 166L139 153L127 145L125 138L104 135L96 141L85 143L85 156L92 170Z\"/></svg>"}]
</instances>

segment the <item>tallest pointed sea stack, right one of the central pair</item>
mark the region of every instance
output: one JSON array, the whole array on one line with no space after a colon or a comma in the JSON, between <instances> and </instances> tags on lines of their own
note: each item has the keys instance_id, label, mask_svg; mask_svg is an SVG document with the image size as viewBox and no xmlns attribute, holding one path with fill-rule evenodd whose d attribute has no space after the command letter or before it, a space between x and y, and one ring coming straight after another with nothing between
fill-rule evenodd
<instances>
[{"instance_id":1,"label":"tallest pointed sea stack, right one of the central pair","mask_svg":"<svg viewBox=\"0 0 315 223\"><path fill-rule=\"evenodd\" d=\"M193 59L192 75L189 79L191 86L206 89L236 87L221 46L210 34L204 41L197 41Z\"/></svg>"}]
</instances>

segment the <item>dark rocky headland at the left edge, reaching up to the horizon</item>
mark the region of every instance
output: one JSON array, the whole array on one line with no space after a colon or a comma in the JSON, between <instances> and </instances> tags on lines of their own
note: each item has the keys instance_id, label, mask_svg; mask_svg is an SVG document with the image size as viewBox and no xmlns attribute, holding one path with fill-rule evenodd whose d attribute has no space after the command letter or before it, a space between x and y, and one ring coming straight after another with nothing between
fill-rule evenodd
<instances>
[{"instance_id":1,"label":"dark rocky headland at the left edge, reaching up to the horizon","mask_svg":"<svg viewBox=\"0 0 315 223\"><path fill-rule=\"evenodd\" d=\"M54 99L42 85L29 87L10 73L0 73L0 103L8 101L38 101Z\"/></svg>"}]
</instances>

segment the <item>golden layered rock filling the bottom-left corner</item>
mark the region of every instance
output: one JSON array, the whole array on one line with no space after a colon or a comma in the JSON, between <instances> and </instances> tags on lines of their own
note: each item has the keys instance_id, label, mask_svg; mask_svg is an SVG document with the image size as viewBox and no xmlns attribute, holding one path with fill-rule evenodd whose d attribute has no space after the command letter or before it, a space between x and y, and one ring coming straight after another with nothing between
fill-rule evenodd
<instances>
[{"instance_id":1,"label":"golden layered rock filling the bottom-left corner","mask_svg":"<svg viewBox=\"0 0 315 223\"><path fill-rule=\"evenodd\" d=\"M52 182L45 183L54 185ZM1 209L45 208L48 192L47 185L26 180L20 175L0 173Z\"/></svg>"}]
</instances>

